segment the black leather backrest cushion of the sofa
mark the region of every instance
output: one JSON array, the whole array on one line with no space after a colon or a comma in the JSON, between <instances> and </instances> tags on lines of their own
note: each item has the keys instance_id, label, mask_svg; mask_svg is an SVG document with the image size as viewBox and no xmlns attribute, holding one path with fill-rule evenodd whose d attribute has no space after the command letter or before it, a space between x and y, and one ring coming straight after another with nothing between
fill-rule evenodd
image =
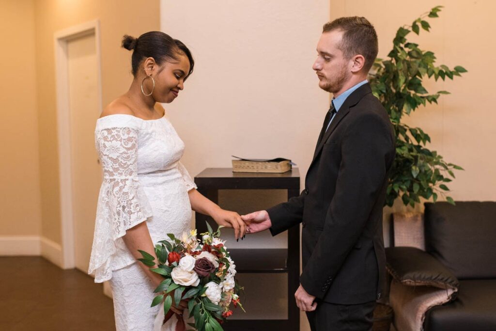
<instances>
[{"instance_id":1,"label":"black leather backrest cushion of the sofa","mask_svg":"<svg viewBox=\"0 0 496 331\"><path fill-rule=\"evenodd\" d=\"M426 251L458 279L496 277L496 202L425 204Z\"/></svg>"}]
</instances>

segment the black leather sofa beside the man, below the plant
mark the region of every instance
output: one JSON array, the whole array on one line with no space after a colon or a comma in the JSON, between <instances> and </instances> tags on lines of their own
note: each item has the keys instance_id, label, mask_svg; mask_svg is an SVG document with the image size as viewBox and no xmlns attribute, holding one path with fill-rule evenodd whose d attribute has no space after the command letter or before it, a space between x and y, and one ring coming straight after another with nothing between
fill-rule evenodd
<instances>
[{"instance_id":1,"label":"black leather sofa beside the man, below the plant","mask_svg":"<svg viewBox=\"0 0 496 331\"><path fill-rule=\"evenodd\" d=\"M426 203L424 228L425 252L387 248L387 269L396 288L405 286L415 296L413 286L420 296L426 293L421 288L433 286L448 294L448 302L421 316L398 316L403 328L405 321L421 318L410 330L496 331L496 202ZM401 290L391 290L390 301L395 295L402 295ZM395 309L394 314L410 313Z\"/></svg>"}]
</instances>

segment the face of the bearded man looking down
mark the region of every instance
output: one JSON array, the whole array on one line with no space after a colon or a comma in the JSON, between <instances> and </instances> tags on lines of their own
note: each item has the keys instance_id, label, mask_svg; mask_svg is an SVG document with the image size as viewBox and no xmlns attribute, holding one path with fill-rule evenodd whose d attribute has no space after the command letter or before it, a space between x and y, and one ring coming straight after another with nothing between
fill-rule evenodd
<instances>
[{"instance_id":1,"label":"face of the bearded man looking down","mask_svg":"<svg viewBox=\"0 0 496 331\"><path fill-rule=\"evenodd\" d=\"M322 33L317 44L317 59L312 66L319 79L318 86L331 93L339 92L351 78L351 61L345 59L338 48L342 37L343 32L339 30Z\"/></svg>"}]
</instances>

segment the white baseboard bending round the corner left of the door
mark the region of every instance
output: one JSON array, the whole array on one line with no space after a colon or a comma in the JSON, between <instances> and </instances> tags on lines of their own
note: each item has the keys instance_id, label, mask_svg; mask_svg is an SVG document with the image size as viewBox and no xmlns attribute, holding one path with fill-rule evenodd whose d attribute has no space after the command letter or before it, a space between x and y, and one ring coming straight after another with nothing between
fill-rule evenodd
<instances>
[{"instance_id":1,"label":"white baseboard bending round the corner left of the door","mask_svg":"<svg viewBox=\"0 0 496 331\"><path fill-rule=\"evenodd\" d=\"M40 236L0 236L0 256L43 256L62 267L62 246Z\"/></svg>"}]
</instances>

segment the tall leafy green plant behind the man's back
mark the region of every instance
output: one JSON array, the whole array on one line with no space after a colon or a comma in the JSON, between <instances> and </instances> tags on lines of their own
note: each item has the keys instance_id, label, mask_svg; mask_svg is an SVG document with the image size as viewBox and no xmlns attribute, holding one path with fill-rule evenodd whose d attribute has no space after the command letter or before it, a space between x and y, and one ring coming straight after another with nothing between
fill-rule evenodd
<instances>
[{"instance_id":1,"label":"tall leafy green plant behind the man's back","mask_svg":"<svg viewBox=\"0 0 496 331\"><path fill-rule=\"evenodd\" d=\"M396 158L389 175L385 200L388 206L392 206L399 196L405 205L412 207L420 202L420 197L435 202L439 195L445 196L449 191L445 183L451 182L449 177L455 178L453 170L463 170L460 166L446 163L441 155L426 147L427 142L431 142L426 132L401 122L405 114L410 115L420 105L437 104L441 94L449 94L447 91L430 94L422 85L423 79L434 76L436 81L438 78L452 80L454 76L467 72L462 66L453 69L445 65L437 66L433 52L422 51L418 44L406 39L412 31L417 35L421 28L429 31L431 25L425 19L438 17L441 8L436 6L413 21L412 25L400 27L388 59L377 59L369 78L372 93L386 108L396 136ZM454 204L451 197L446 197L446 200Z\"/></svg>"}]
</instances>

